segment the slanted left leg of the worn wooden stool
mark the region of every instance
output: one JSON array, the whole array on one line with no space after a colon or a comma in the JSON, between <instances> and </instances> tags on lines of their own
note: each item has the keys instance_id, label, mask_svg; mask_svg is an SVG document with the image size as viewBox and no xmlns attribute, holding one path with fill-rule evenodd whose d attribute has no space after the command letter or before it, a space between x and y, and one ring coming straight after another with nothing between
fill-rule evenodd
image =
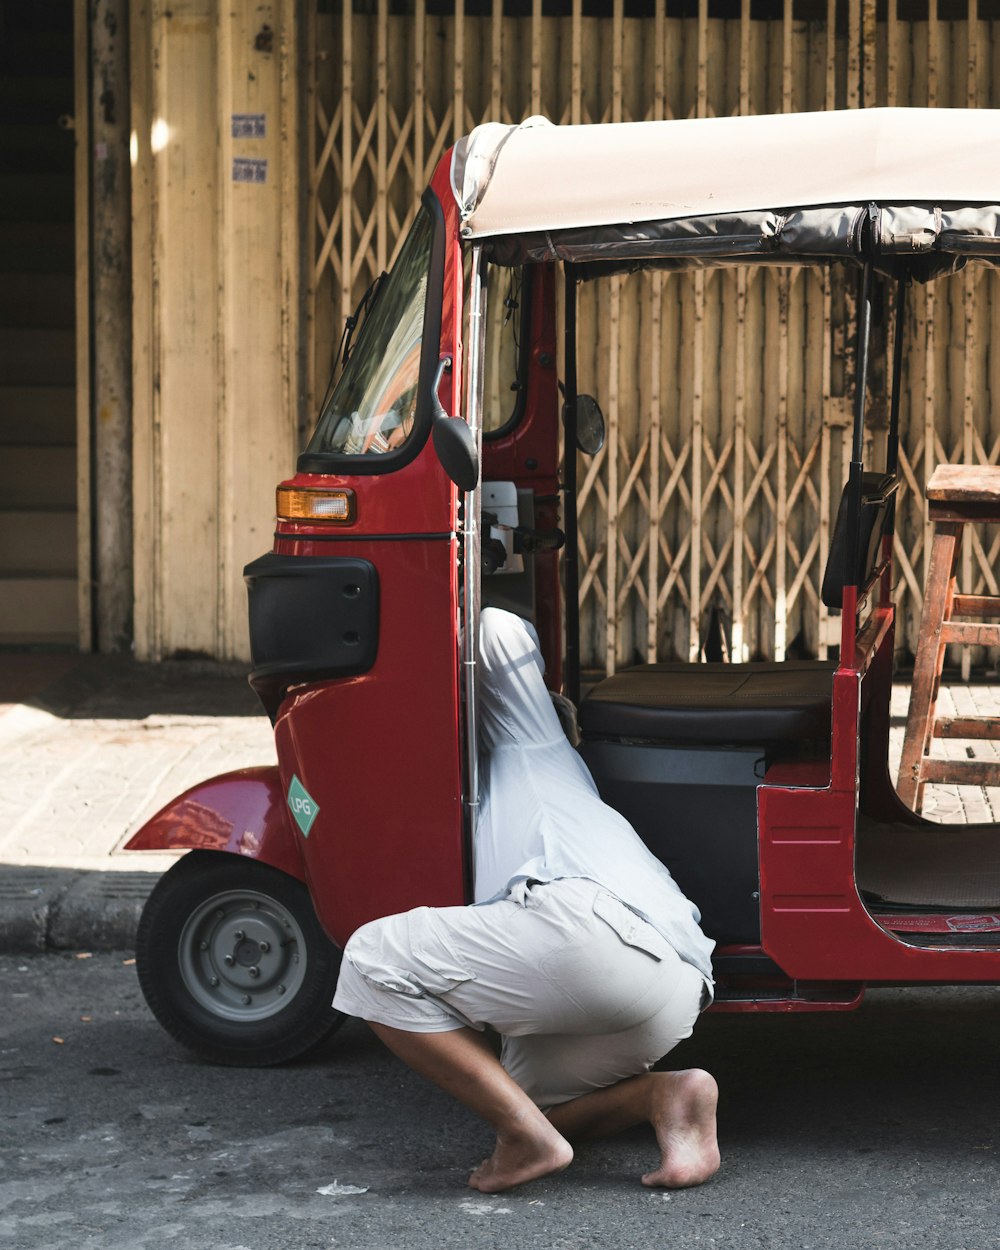
<instances>
[{"instance_id":1,"label":"slanted left leg of the worn wooden stool","mask_svg":"<svg viewBox=\"0 0 1000 1250\"><path fill-rule=\"evenodd\" d=\"M930 570L924 590L924 612L916 644L914 682L896 790L908 808L920 811L924 805L921 764L930 745L938 688L944 664L941 628L950 615L954 598L955 560L961 538L960 521L938 521L930 551Z\"/></svg>"}]
</instances>

